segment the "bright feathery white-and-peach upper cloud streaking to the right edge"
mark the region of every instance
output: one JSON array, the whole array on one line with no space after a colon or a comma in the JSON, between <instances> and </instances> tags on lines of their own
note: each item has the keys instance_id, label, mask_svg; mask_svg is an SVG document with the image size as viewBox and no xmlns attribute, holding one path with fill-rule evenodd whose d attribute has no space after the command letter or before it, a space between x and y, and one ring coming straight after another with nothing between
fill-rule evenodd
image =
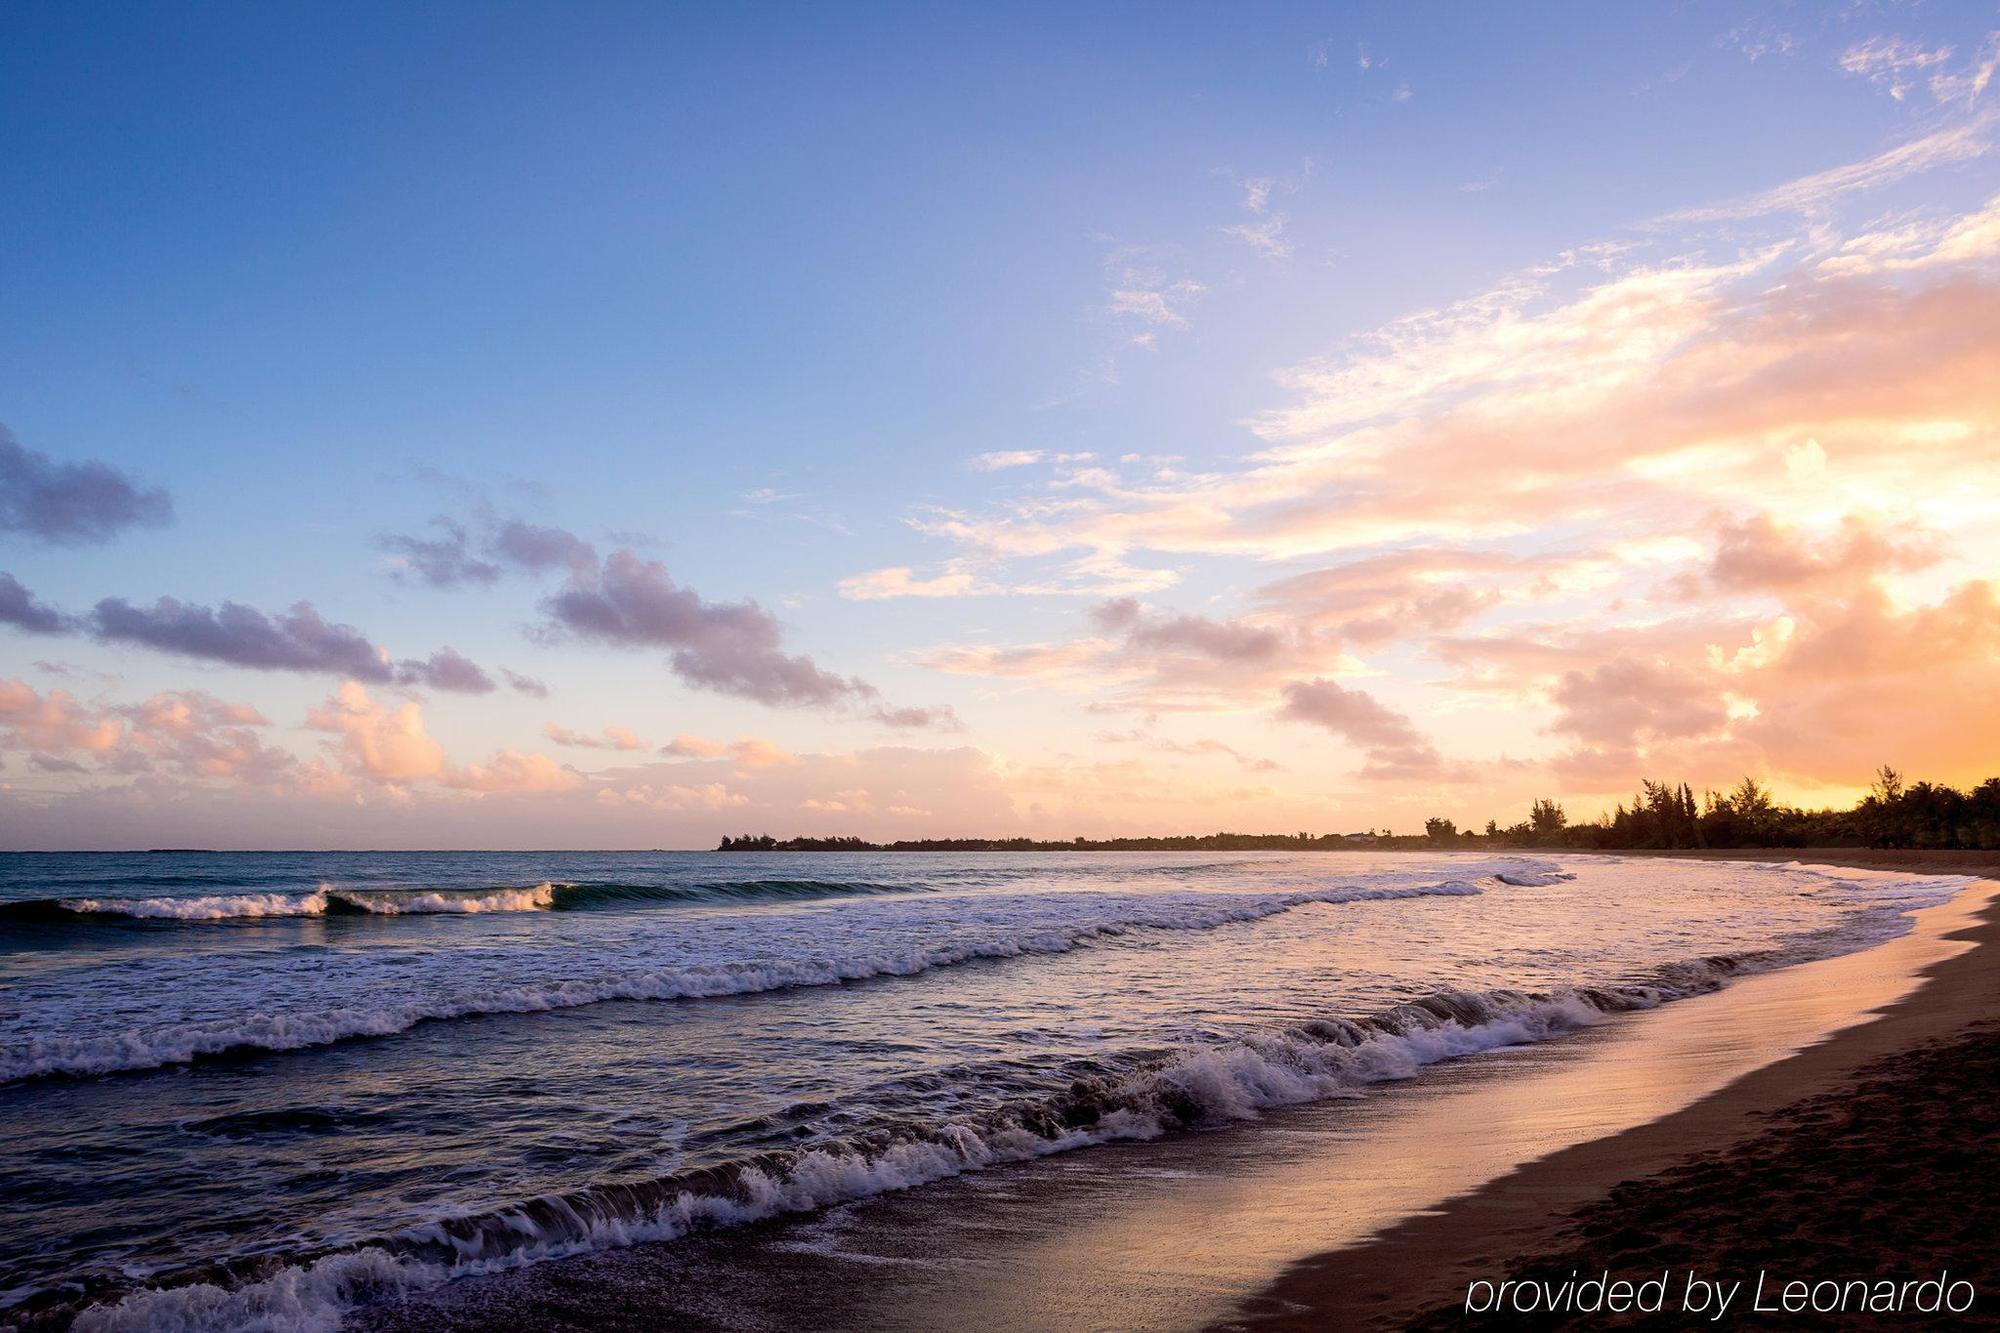
<instances>
[{"instance_id":1,"label":"bright feathery white-and-peach upper cloud streaking to the right edge","mask_svg":"<svg viewBox=\"0 0 2000 1333\"><path fill-rule=\"evenodd\" d=\"M1964 486L1988 490L2000 354L1986 212L1868 250L1894 274L1824 272L1792 246L1714 262L1576 250L1282 372L1290 400L1252 418L1264 448L1238 464L1096 468L912 522L998 586L1046 586L1012 570L1070 556L1172 576L1158 556L1492 552L1548 530L1586 532L1582 560L1630 568L1618 548L1684 536L1690 510L1744 494L1810 508L1828 486L1886 486L1972 530ZM1862 254L1838 234L1812 244ZM1914 448L1926 466L1908 466Z\"/></svg>"}]
</instances>

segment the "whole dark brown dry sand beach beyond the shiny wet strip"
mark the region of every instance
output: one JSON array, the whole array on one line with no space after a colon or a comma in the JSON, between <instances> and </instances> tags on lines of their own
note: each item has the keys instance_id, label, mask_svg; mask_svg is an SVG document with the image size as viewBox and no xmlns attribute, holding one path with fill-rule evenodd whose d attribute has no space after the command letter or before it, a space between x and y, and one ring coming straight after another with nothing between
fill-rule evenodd
<instances>
[{"instance_id":1,"label":"whole dark brown dry sand beach beyond the shiny wet strip","mask_svg":"<svg viewBox=\"0 0 2000 1333\"><path fill-rule=\"evenodd\" d=\"M1994 853L1676 855L2000 877ZM1468 1315L1468 1287L1604 1271L1612 1279L1672 1271L1672 1299L1654 1319L1676 1327L1688 1319L1678 1309L1688 1271L1742 1279L1742 1303L1768 1273L1764 1301L1774 1303L1774 1289L1796 1279L1902 1283L1950 1269L1978 1291L1976 1305L1952 1319L2000 1319L1986 1187L2000 1143L2000 903L1990 901L1954 937L1972 947L1928 967L1912 995L1872 1021L1674 1115L1552 1153L1362 1245L1296 1263L1224 1327L1460 1327L1478 1319L1550 1327L1562 1319L1546 1311ZM1738 1305L1736 1313L1748 1311Z\"/></svg>"}]
</instances>

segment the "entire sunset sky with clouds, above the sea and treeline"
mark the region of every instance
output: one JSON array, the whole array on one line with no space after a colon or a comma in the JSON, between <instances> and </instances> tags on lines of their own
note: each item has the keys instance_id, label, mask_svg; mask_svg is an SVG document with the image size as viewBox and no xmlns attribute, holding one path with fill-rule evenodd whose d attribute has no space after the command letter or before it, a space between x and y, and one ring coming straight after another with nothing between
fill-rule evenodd
<instances>
[{"instance_id":1,"label":"entire sunset sky with clouds, above the sea and treeline","mask_svg":"<svg viewBox=\"0 0 2000 1333\"><path fill-rule=\"evenodd\" d=\"M2000 6L0 10L0 847L2000 771Z\"/></svg>"}]
</instances>

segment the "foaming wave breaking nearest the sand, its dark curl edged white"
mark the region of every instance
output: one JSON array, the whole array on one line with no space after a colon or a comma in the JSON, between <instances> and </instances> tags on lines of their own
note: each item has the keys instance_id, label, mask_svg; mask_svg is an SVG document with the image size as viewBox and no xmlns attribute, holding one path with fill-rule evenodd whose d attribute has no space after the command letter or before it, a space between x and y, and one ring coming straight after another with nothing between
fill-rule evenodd
<instances>
[{"instance_id":1,"label":"foaming wave breaking nearest the sand, its dark curl edged white","mask_svg":"<svg viewBox=\"0 0 2000 1333\"><path fill-rule=\"evenodd\" d=\"M670 1241L786 1213L914 1189L986 1167L1120 1139L1246 1121L1264 1111L1352 1097L1438 1061L1560 1037L1608 1015L1714 991L1744 959L1700 959L1644 985L1550 995L1438 991L1364 1019L1328 1017L1172 1057L1106 1067L1056 1097L852 1141L766 1153L718 1169L542 1195L438 1219L390 1237L290 1261L190 1273L94 1305L76 1329L326 1329L370 1301L544 1259Z\"/></svg>"}]
</instances>

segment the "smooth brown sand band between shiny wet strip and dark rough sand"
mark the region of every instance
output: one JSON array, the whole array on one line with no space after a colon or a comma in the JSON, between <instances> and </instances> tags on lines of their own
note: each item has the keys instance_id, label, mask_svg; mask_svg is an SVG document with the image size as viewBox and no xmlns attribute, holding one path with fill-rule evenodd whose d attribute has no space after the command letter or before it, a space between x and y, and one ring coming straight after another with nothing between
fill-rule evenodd
<instances>
[{"instance_id":1,"label":"smooth brown sand band between shiny wet strip and dark rough sand","mask_svg":"<svg viewBox=\"0 0 2000 1333\"><path fill-rule=\"evenodd\" d=\"M1800 861L1866 871L1974 875L2000 889L2000 853L1770 849L1616 853L1698 861ZM1734 1083L1662 1119L1538 1157L1434 1211L1408 1217L1374 1239L1292 1263L1220 1329L1406 1327L1456 1315L1466 1285L1500 1279L1524 1263L1564 1253L1576 1213L1616 1213L1614 1189L1654 1183L1696 1155L1748 1153L1780 1131L1772 1117L1808 1099L1852 1099L1862 1077L1922 1049L1964 1037L2000 1013L2000 895L1974 923L1946 935L1972 947L1926 967L1922 983L1876 1017ZM1746 1167L1756 1169L1746 1161ZM1968 1255L1970 1257L1970 1255ZM1690 1265L1680 1265L1690 1267ZM1700 1267L1696 1257L1692 1267Z\"/></svg>"}]
</instances>

